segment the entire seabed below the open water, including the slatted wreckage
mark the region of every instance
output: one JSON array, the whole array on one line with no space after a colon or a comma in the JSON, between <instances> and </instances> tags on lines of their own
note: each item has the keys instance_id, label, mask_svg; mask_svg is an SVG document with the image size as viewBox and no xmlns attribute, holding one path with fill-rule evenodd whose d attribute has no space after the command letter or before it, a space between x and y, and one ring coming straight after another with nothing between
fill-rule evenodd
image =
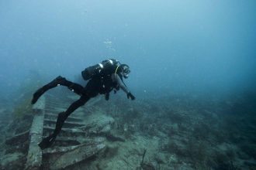
<instances>
[{"instance_id":1,"label":"entire seabed below the open water, including the slatted wreckage","mask_svg":"<svg viewBox=\"0 0 256 170\"><path fill-rule=\"evenodd\" d=\"M96 97L78 108L42 151L37 144L54 131L57 114L78 99L43 95L28 129L11 135L7 130L17 122L1 127L0 169L256 169L256 121L251 113L237 118L235 101L113 98Z\"/></svg>"}]
</instances>

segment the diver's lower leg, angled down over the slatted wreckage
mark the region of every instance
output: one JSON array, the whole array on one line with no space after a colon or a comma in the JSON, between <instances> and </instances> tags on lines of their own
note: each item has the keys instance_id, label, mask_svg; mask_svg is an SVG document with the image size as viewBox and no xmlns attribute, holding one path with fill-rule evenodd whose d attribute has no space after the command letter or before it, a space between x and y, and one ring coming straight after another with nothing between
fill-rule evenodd
<instances>
[{"instance_id":1,"label":"diver's lower leg, angled down over the slatted wreckage","mask_svg":"<svg viewBox=\"0 0 256 170\"><path fill-rule=\"evenodd\" d=\"M91 97L88 96L81 96L79 100L76 100L70 107L67 108L65 112L61 112L58 114L56 126L54 129L54 133L50 134L47 138L44 138L43 141L40 142L39 146L41 149L48 148L52 145L57 137L57 134L60 133L61 128L66 121L67 117L78 107L84 105Z\"/></svg>"}]
</instances>

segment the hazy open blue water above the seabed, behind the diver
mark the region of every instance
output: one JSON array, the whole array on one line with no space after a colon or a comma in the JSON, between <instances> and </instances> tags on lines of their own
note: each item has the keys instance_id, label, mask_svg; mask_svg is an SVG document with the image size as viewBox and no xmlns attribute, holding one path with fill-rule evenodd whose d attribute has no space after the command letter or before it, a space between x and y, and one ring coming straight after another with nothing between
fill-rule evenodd
<instances>
[{"instance_id":1,"label":"hazy open blue water above the seabed, behind the diver","mask_svg":"<svg viewBox=\"0 0 256 170\"><path fill-rule=\"evenodd\" d=\"M2 0L0 98L12 104L36 75L42 83L77 80L87 66L115 58L130 66L126 84L137 102L236 96L243 100L234 108L250 112L255 8L254 0Z\"/></svg>"}]
</instances>

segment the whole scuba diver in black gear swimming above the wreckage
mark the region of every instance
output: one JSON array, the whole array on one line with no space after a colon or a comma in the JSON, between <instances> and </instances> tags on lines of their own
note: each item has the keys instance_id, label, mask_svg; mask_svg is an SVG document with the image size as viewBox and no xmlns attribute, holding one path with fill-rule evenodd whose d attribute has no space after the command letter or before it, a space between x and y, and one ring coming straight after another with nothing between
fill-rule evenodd
<instances>
[{"instance_id":1,"label":"whole scuba diver in black gear swimming above the wreckage","mask_svg":"<svg viewBox=\"0 0 256 170\"><path fill-rule=\"evenodd\" d=\"M81 76L85 80L88 80L85 87L82 87L78 83L66 80L62 76L57 76L57 78L52 80L50 83L47 83L39 90L36 90L36 93L33 93L31 104L35 104L40 96L42 96L47 90L60 85L67 87L69 90L81 96L78 100L74 101L66 111L58 114L54 133L50 134L47 138L43 138L43 141L39 143L40 148L49 148L50 145L54 143L57 134L60 133L67 117L78 107L83 106L92 97L96 97L98 94L104 94L106 100L109 100L109 92L114 90L116 93L116 91L121 88L126 93L128 99L130 98L131 100L135 100L135 97L123 82L123 78L128 78L129 73L130 67L128 65L121 64L116 59L106 59L102 61L102 63L95 66L89 66L81 72Z\"/></svg>"}]
</instances>

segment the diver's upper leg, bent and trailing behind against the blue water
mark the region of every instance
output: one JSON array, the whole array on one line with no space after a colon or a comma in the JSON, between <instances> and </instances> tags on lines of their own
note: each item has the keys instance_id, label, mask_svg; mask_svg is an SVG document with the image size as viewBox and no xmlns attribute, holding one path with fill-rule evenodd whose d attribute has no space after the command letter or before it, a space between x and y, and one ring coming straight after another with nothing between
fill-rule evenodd
<instances>
[{"instance_id":1,"label":"diver's upper leg, bent and trailing behind against the blue water","mask_svg":"<svg viewBox=\"0 0 256 170\"><path fill-rule=\"evenodd\" d=\"M59 85L68 87L70 90L74 91L74 93L78 93L79 95L81 95L84 89L84 87L82 87L78 83L73 83L71 81L66 80L62 76L57 76L56 79L52 80L50 83L47 83L47 85L41 87L39 90L36 90L36 93L33 93L33 99L31 101L31 104L35 104L39 97L42 96L43 93L45 93L47 90L50 90Z\"/></svg>"}]
</instances>

